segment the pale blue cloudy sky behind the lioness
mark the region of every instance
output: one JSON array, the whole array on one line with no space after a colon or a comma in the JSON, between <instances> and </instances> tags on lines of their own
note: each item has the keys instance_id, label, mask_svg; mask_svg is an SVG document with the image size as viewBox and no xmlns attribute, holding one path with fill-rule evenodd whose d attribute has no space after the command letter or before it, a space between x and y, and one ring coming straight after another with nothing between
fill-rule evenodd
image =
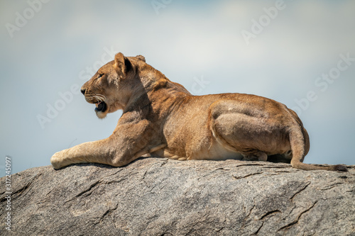
<instances>
[{"instance_id":1,"label":"pale blue cloudy sky behind the lioness","mask_svg":"<svg viewBox=\"0 0 355 236\"><path fill-rule=\"evenodd\" d=\"M6 155L20 172L112 133L121 111L99 120L77 88L115 52L144 55L194 94L285 103L310 133L305 162L355 164L355 61L342 59L355 58L355 1L39 2L0 1L1 176Z\"/></svg>"}]
</instances>

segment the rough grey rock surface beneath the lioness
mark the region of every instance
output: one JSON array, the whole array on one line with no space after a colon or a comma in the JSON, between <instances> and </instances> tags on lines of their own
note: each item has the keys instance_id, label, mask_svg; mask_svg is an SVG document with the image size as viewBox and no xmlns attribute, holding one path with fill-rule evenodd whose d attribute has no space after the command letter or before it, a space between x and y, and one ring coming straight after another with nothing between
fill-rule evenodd
<instances>
[{"instance_id":1,"label":"rough grey rock surface beneath the lioness","mask_svg":"<svg viewBox=\"0 0 355 236\"><path fill-rule=\"evenodd\" d=\"M143 158L1 178L0 235L355 235L355 168Z\"/></svg>"}]
</instances>

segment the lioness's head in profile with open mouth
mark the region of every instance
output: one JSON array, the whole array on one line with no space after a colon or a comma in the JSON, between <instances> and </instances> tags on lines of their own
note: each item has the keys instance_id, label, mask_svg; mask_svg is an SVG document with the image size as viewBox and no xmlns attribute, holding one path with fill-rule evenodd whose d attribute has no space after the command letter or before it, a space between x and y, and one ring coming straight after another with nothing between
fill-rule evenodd
<instances>
[{"instance_id":1,"label":"lioness's head in profile with open mouth","mask_svg":"<svg viewBox=\"0 0 355 236\"><path fill-rule=\"evenodd\" d=\"M143 56L125 57L119 52L113 61L102 66L82 86L85 100L96 105L95 112L99 118L126 107L131 95L139 87L138 72L144 65L146 60Z\"/></svg>"}]
</instances>

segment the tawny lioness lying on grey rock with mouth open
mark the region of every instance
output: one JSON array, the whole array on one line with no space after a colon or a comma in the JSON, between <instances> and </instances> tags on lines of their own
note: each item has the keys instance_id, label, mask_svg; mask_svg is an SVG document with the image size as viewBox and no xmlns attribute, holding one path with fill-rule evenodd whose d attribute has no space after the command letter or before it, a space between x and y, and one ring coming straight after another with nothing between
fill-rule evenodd
<instances>
[{"instance_id":1,"label":"tawny lioness lying on grey rock with mouth open","mask_svg":"<svg viewBox=\"0 0 355 236\"><path fill-rule=\"evenodd\" d=\"M170 159L282 157L297 169L346 172L302 163L310 140L297 114L282 103L249 94L193 96L138 55L117 53L82 86L99 118L119 109L114 133L57 152L55 169L80 162L122 167L144 154Z\"/></svg>"}]
</instances>

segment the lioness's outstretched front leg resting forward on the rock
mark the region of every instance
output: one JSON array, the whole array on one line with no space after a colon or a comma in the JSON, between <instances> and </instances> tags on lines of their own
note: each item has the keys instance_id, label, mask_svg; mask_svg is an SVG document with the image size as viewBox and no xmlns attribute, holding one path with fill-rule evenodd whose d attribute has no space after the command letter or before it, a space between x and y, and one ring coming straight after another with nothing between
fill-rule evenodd
<instances>
[{"instance_id":1,"label":"lioness's outstretched front leg resting forward on the rock","mask_svg":"<svg viewBox=\"0 0 355 236\"><path fill-rule=\"evenodd\" d=\"M144 154L165 147L157 139L160 129L153 129L148 121L118 125L114 133L104 140L84 142L67 150L56 152L50 162L55 169L76 163L101 163L122 167ZM159 139L158 139L159 140Z\"/></svg>"}]
</instances>

